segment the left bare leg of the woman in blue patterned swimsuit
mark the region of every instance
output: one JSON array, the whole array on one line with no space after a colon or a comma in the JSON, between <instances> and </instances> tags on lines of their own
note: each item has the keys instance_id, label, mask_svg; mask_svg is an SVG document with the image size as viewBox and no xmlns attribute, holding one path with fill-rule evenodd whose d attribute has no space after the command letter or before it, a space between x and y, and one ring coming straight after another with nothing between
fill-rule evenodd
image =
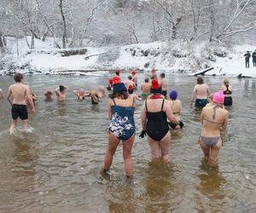
<instances>
[{"instance_id":1,"label":"left bare leg of the woman in blue patterned swimsuit","mask_svg":"<svg viewBox=\"0 0 256 213\"><path fill-rule=\"evenodd\" d=\"M111 132L108 135L108 150L105 154L104 159L104 170L109 170L113 162L113 154L116 151L116 148L119 146L119 139L113 135Z\"/></svg>"}]
</instances>

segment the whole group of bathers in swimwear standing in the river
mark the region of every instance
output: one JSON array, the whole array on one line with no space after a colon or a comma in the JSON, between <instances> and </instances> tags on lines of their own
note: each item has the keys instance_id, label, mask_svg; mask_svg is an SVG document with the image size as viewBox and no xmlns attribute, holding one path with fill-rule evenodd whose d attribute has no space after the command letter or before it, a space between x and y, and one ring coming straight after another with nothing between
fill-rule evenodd
<instances>
[{"instance_id":1,"label":"whole group of bathers in swimwear standing in the river","mask_svg":"<svg viewBox=\"0 0 256 213\"><path fill-rule=\"evenodd\" d=\"M17 119L20 118L24 128L27 128L27 105L31 107L31 112L35 113L34 101L37 96L32 94L28 84L23 84L23 75L15 74L15 84L8 90L7 99L12 106L12 124L9 132L13 134L17 125ZM58 101L66 100L68 87L60 85L55 89L55 95ZM138 89L137 72L131 72L131 76L125 82L121 81L119 71L109 79L107 89L110 92L108 101L108 118L110 120L108 133L108 148L104 158L103 171L108 174L108 170L113 163L114 153L119 146L123 144L123 157L125 160L125 175L133 176L133 165L131 158L131 149L135 141L136 128L134 121L134 112L137 107L137 101L143 101L141 123L142 132L139 137L147 137L150 147L152 162L169 161L171 131L180 131L183 129L181 119L182 102L177 98L177 90L172 90L168 94L167 81L165 73L158 76L155 69L151 72L151 79L145 78L141 84L141 95L134 93ZM79 100L90 96L91 103L98 103L105 95L105 89L99 87L86 91L77 89L73 91ZM232 87L228 79L224 80L224 86L216 93L210 94L209 86L204 83L203 78L197 78L197 83L191 95L191 107L195 100L195 107L201 107L201 135L199 143L204 153L204 157L212 165L218 162L218 151L222 146L222 131L228 124L229 112L224 106L232 105ZM44 92L45 101L52 101L54 93L51 89ZM0 97L3 92L0 90ZM168 96L168 97L167 97Z\"/></svg>"}]
</instances>

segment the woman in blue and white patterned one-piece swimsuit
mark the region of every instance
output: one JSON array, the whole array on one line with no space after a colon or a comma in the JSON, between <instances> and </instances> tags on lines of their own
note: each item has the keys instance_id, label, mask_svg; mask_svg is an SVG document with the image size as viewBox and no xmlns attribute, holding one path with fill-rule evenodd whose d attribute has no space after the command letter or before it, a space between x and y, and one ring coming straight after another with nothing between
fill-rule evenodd
<instances>
[{"instance_id":1,"label":"woman in blue and white patterned one-piece swimsuit","mask_svg":"<svg viewBox=\"0 0 256 213\"><path fill-rule=\"evenodd\" d=\"M111 120L108 135L108 150L105 155L104 171L107 172L113 162L113 155L119 142L123 142L123 157L125 160L125 174L133 175L131 147L135 138L134 97L127 93L121 81L113 84L113 95L109 95L108 116Z\"/></svg>"}]
</instances>

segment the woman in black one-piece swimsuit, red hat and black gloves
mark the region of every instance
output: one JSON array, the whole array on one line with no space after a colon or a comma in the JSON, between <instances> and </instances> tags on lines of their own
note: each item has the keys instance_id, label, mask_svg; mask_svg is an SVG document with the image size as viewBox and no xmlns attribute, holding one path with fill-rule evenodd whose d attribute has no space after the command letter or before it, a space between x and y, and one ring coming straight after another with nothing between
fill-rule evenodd
<instances>
[{"instance_id":1,"label":"woman in black one-piece swimsuit, red hat and black gloves","mask_svg":"<svg viewBox=\"0 0 256 213\"><path fill-rule=\"evenodd\" d=\"M148 135L152 162L160 158L163 162L168 162L171 133L169 131L167 119L174 123L179 120L173 115L172 108L165 101L161 94L160 83L156 79L152 80L151 94L143 104L141 136Z\"/></svg>"}]
</instances>

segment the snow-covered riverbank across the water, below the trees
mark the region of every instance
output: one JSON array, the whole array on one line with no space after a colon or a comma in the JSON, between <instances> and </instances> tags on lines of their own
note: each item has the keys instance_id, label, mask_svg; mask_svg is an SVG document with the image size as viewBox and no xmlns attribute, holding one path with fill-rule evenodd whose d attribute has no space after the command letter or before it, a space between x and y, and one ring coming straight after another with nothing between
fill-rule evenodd
<instances>
[{"instance_id":1,"label":"snow-covered riverbank across the water, below the trees","mask_svg":"<svg viewBox=\"0 0 256 213\"><path fill-rule=\"evenodd\" d=\"M28 37L28 41L30 38ZM35 49L29 51L26 40L9 37L8 54L0 57L0 74L9 72L80 72L139 69L153 67L166 72L198 72L207 66L214 69L207 74L256 77L256 67L245 68L243 55L256 49L239 45L230 49L208 46L207 43L189 46L184 43L140 43L121 47L84 48L86 55L63 57L53 48L52 40L35 40ZM219 56L224 53L224 57ZM91 56L92 55L92 56ZM94 56L93 56L94 55ZM86 59L86 57L90 56ZM1 69L2 67L2 69Z\"/></svg>"}]
</instances>

